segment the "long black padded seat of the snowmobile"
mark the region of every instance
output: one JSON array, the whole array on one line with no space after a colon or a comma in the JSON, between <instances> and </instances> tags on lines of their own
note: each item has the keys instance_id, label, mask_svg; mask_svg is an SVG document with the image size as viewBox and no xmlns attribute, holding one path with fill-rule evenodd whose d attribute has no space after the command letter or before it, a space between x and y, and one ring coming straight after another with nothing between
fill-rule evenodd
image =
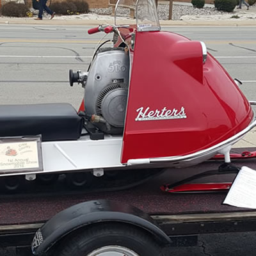
<instances>
[{"instance_id":1,"label":"long black padded seat of the snowmobile","mask_svg":"<svg viewBox=\"0 0 256 256\"><path fill-rule=\"evenodd\" d=\"M0 105L0 137L35 136L43 141L77 140L83 119L68 103Z\"/></svg>"}]
</instances>

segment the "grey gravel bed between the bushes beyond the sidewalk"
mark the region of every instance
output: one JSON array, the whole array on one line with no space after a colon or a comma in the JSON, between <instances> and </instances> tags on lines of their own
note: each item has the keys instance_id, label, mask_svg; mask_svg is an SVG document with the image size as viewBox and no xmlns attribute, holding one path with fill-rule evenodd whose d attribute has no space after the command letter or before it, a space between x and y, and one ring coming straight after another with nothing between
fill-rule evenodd
<instances>
[{"instance_id":1,"label":"grey gravel bed between the bushes beyond the sidewalk","mask_svg":"<svg viewBox=\"0 0 256 256\"><path fill-rule=\"evenodd\" d=\"M121 9L121 8L120 8ZM112 8L92 8L90 13L98 15L111 15ZM160 20L168 20L169 18L169 4L158 4L157 13ZM224 12L220 12L212 7L194 8L192 5L173 5L172 20L182 20L183 15L220 15ZM122 15L129 17L129 10L122 8Z\"/></svg>"}]
</instances>

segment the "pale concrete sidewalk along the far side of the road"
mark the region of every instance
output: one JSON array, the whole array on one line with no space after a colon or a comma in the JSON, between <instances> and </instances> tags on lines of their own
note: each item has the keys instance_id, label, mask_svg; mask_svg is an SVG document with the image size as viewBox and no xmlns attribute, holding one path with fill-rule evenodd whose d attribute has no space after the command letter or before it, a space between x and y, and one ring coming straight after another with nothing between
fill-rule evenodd
<instances>
[{"instance_id":1,"label":"pale concrete sidewalk along the far side of the road","mask_svg":"<svg viewBox=\"0 0 256 256\"><path fill-rule=\"evenodd\" d=\"M161 1L159 1L161 4ZM173 2L173 5L192 6L191 3ZM214 8L214 4L205 4L204 8ZM236 19L237 18L237 19ZM242 9L234 9L233 13L221 15L185 15L183 20L160 20L161 26L256 26L256 6L251 6L249 10L243 6ZM123 19L124 24L134 23L132 19ZM58 16L50 20L35 20L35 17L16 18L1 17L0 24L44 24L44 25L99 25L113 24L113 16L96 15L92 13L82 15Z\"/></svg>"}]
</instances>

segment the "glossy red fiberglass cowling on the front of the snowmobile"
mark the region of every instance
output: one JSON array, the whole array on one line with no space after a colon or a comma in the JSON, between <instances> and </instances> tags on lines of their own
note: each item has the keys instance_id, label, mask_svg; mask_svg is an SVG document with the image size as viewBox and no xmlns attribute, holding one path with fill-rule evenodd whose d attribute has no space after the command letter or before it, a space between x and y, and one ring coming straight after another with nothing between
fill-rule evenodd
<instances>
[{"instance_id":1,"label":"glossy red fiberglass cowling on the front of the snowmobile","mask_svg":"<svg viewBox=\"0 0 256 256\"><path fill-rule=\"evenodd\" d=\"M248 100L202 45L164 32L138 32L125 119L122 163L185 156L245 129Z\"/></svg>"}]
</instances>

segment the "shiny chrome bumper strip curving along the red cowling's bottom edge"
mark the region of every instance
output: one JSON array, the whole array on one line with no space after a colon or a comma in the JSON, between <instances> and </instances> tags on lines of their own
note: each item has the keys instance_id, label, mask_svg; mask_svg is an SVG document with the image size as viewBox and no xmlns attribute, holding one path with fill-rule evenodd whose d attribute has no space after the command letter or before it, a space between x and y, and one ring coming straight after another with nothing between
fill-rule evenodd
<instances>
[{"instance_id":1,"label":"shiny chrome bumper strip curving along the red cowling's bottom edge","mask_svg":"<svg viewBox=\"0 0 256 256\"><path fill-rule=\"evenodd\" d=\"M250 102L251 105L256 105L256 101ZM192 160L196 159L198 157L203 157L207 154L213 154L214 152L218 152L218 150L221 150L223 147L227 147L228 145L232 145L236 143L241 137L244 136L248 131L252 130L253 127L256 126L256 119L255 119L255 113L253 113L253 122L248 125L243 131L238 132L236 135L232 136L228 140L222 141L221 143L218 143L217 145L214 145L210 148L201 150L199 152L189 154L186 156L172 156L172 157L155 157L155 158L147 158L147 159L130 159L127 164L141 164L141 163L168 163L168 162L179 162L179 161L186 161L186 160Z\"/></svg>"}]
</instances>

